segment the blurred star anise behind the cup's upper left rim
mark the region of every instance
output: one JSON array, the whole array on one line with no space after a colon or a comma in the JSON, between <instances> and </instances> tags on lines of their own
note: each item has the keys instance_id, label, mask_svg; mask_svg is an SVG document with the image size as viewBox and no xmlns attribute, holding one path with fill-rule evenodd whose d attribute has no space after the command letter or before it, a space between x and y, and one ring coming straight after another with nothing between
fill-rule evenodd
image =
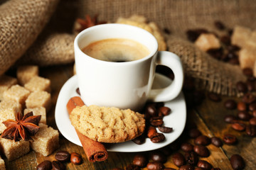
<instances>
[{"instance_id":1,"label":"blurred star anise behind the cup's upper left rim","mask_svg":"<svg viewBox=\"0 0 256 170\"><path fill-rule=\"evenodd\" d=\"M93 18L89 15L85 16L85 19L78 18L76 21L80 24L80 28L77 29L78 32L81 32L82 30L85 30L86 28L100 25L102 23L107 23L106 21L97 21L97 16L95 15Z\"/></svg>"}]
</instances>

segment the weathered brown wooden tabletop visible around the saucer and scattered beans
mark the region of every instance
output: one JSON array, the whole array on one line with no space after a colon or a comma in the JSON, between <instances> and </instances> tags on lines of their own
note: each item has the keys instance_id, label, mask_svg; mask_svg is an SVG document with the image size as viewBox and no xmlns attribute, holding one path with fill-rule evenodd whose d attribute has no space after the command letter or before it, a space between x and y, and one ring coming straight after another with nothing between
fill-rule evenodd
<instances>
[{"instance_id":1,"label":"weathered brown wooden tabletop visible around the saucer and scattered beans","mask_svg":"<svg viewBox=\"0 0 256 170\"><path fill-rule=\"evenodd\" d=\"M53 108L49 113L47 113L47 122L48 125L57 129L54 119L55 103L57 101L60 88L63 86L65 81L73 76L73 64L41 68L40 74L42 77L47 77L51 80ZM236 145L223 145L223 147L208 145L208 149L210 149L210 157L202 159L207 160L214 167L219 167L222 170L229 170L232 169L229 158L233 154L240 154L245 159L245 169L256 169L256 138L247 136L245 132L237 132L233 130L230 128L229 124L223 121L225 115L235 115L237 113L237 111L228 111L223 107L223 103L227 99L228 97L222 96L222 101L215 103L206 98L200 106L196 106L195 108L188 110L187 115L189 122L193 121L196 123L198 129L201 130L203 135L207 135L208 137L223 137L223 135L228 132L238 137L238 144ZM237 101L239 100L239 98L235 99ZM193 140L187 141L193 144ZM87 161L82 147L74 145L72 142L66 140L62 135L60 135L60 148L58 150L78 152L83 157L83 163L79 166L66 163L65 166L67 169L100 170L114 169L117 167L124 169L128 164L132 163L132 159L135 155L135 153L109 152L107 161L91 163ZM8 160L5 159L6 169L36 169L37 164L44 160L55 160L55 152L50 154L48 157L43 157L41 154L31 151L13 162L8 162ZM168 161L164 165L166 167L178 169L178 167L173 164L171 158L172 157L170 155L168 157Z\"/></svg>"}]
</instances>

